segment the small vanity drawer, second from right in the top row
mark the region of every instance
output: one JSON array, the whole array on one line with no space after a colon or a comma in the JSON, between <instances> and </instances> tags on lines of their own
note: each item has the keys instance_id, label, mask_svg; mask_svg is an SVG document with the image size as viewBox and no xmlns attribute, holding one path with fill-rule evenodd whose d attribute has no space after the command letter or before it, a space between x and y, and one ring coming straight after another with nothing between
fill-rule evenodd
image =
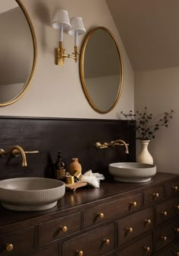
<instances>
[{"instance_id":1,"label":"small vanity drawer, second from right in the top row","mask_svg":"<svg viewBox=\"0 0 179 256\"><path fill-rule=\"evenodd\" d=\"M149 203L158 202L164 197L164 191L162 186L152 187L149 190L146 190L144 193L144 205Z\"/></svg>"}]
</instances>

